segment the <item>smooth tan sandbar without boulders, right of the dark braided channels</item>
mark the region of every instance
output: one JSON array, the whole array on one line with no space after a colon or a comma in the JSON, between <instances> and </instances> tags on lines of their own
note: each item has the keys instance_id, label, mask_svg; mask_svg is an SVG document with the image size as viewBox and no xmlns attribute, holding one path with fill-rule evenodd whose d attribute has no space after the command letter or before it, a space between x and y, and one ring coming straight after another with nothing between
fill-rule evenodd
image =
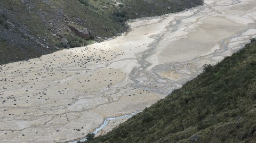
<instances>
[{"instance_id":1,"label":"smooth tan sandbar without boulders, right of the dark braided channels","mask_svg":"<svg viewBox=\"0 0 256 143\"><path fill-rule=\"evenodd\" d=\"M160 43L159 47L166 48L158 55L158 64L184 61L203 55L209 52L214 44L221 39L235 35L245 28L246 26L243 24L236 24L220 16L206 18L203 20L203 24L197 27L197 31L190 32L188 37L167 45Z\"/></svg>"}]
</instances>

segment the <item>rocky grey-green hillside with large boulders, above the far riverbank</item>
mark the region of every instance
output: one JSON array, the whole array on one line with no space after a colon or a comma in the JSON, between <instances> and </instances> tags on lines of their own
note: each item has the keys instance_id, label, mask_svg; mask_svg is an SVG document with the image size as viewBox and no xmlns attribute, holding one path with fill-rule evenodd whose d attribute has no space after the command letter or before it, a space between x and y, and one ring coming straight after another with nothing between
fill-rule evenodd
<instances>
[{"instance_id":1,"label":"rocky grey-green hillside with large boulders, above the far riverbank","mask_svg":"<svg viewBox=\"0 0 256 143\"><path fill-rule=\"evenodd\" d=\"M0 64L120 35L125 21L189 9L202 0L44 0L0 5Z\"/></svg>"}]
</instances>

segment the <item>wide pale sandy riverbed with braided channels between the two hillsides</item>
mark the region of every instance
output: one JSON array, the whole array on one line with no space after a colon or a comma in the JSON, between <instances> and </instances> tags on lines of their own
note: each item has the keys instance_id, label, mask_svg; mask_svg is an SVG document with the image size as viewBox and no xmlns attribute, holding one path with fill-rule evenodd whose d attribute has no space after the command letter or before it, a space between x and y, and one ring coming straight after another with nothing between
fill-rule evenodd
<instances>
[{"instance_id":1,"label":"wide pale sandy riverbed with braided channels between the two hillsides","mask_svg":"<svg viewBox=\"0 0 256 143\"><path fill-rule=\"evenodd\" d=\"M109 41L0 65L1 141L67 142L107 120L106 133L255 37L255 1L205 3L136 20Z\"/></svg>"}]
</instances>

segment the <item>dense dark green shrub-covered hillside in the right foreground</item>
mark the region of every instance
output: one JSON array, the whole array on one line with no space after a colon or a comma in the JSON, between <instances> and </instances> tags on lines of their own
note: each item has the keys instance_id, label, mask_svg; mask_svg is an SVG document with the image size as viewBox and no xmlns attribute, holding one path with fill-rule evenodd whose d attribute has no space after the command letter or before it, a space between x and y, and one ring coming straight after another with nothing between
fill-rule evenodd
<instances>
[{"instance_id":1,"label":"dense dark green shrub-covered hillside in the right foreground","mask_svg":"<svg viewBox=\"0 0 256 143\"><path fill-rule=\"evenodd\" d=\"M256 142L256 40L87 142Z\"/></svg>"}]
</instances>

